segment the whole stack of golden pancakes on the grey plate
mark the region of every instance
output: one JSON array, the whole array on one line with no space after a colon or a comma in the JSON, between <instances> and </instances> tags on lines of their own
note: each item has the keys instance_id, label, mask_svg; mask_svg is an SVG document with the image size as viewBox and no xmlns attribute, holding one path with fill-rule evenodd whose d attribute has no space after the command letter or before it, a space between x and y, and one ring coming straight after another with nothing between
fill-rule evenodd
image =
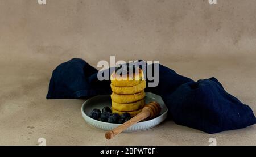
<instances>
[{"instance_id":1,"label":"whole stack of golden pancakes on the grey plate","mask_svg":"<svg viewBox=\"0 0 256 157\"><path fill-rule=\"evenodd\" d=\"M112 89L112 113L128 112L131 117L134 117L141 112L145 105L144 88L146 88L142 69L137 67L134 73L127 74L125 78L113 72L110 86Z\"/></svg>"}]
</instances>

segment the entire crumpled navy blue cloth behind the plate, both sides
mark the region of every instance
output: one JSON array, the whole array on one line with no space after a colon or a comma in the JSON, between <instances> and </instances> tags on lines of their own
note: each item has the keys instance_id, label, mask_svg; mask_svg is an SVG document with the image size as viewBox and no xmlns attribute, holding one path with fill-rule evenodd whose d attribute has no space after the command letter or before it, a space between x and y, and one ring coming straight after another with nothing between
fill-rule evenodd
<instances>
[{"instance_id":1,"label":"entire crumpled navy blue cloth behind the plate, both sides","mask_svg":"<svg viewBox=\"0 0 256 157\"><path fill-rule=\"evenodd\" d=\"M62 63L52 73L47 99L111 94L110 81L98 80L97 73L97 69L79 58ZM256 123L251 108L228 94L216 78L195 82L159 64L158 86L146 87L145 91L162 97L176 124L206 133L240 129Z\"/></svg>"}]
</instances>

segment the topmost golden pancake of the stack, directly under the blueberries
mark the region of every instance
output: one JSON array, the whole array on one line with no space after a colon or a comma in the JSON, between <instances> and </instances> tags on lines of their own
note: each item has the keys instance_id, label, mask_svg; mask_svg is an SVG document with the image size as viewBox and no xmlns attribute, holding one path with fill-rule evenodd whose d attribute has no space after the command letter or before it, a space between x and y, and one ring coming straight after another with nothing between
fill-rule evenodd
<instances>
[{"instance_id":1,"label":"topmost golden pancake of the stack, directly under the blueberries","mask_svg":"<svg viewBox=\"0 0 256 157\"><path fill-rule=\"evenodd\" d=\"M111 83L116 87L130 87L135 86L141 83L144 80L144 74L141 69L137 69L137 73L129 74L129 75L122 75L117 76L115 72L113 72L110 76Z\"/></svg>"}]
</instances>

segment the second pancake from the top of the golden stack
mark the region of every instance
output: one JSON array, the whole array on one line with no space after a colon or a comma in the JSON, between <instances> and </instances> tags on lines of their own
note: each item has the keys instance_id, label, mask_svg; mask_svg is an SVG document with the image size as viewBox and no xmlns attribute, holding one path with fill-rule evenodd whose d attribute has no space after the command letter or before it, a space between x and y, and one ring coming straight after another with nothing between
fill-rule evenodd
<instances>
[{"instance_id":1,"label":"second pancake from the top of the golden stack","mask_svg":"<svg viewBox=\"0 0 256 157\"><path fill-rule=\"evenodd\" d=\"M116 94L135 94L141 92L146 88L146 80L142 80L141 83L130 86L130 87L116 87L113 84L110 84L111 90Z\"/></svg>"}]
</instances>

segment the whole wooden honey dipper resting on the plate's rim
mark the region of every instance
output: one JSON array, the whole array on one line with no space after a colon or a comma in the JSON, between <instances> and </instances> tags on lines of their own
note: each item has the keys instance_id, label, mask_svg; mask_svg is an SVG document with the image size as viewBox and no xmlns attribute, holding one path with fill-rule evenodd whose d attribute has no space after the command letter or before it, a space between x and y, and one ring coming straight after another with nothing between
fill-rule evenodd
<instances>
[{"instance_id":1,"label":"whole wooden honey dipper resting on the plate's rim","mask_svg":"<svg viewBox=\"0 0 256 157\"><path fill-rule=\"evenodd\" d=\"M113 130L110 130L105 133L106 139L112 139L119 133L122 133L122 131L129 128L131 125L136 124L139 121L145 120L147 118L154 118L158 116L161 112L161 107L158 103L155 101L150 102L149 104L145 105L142 108L142 111L138 113L136 116L131 118L129 121L125 122L124 124L118 126L117 128L114 128Z\"/></svg>"}]
</instances>

